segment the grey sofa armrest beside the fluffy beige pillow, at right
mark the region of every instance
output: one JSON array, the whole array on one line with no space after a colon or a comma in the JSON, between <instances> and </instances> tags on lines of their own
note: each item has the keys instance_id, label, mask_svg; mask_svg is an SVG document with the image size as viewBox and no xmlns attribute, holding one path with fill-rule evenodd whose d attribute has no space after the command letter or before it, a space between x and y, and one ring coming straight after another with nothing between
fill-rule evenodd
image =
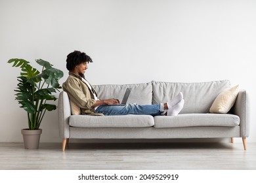
<instances>
[{"instance_id":1,"label":"grey sofa armrest beside the fluffy beige pillow, at right","mask_svg":"<svg viewBox=\"0 0 256 183\"><path fill-rule=\"evenodd\" d=\"M238 93L232 112L240 118L240 137L249 137L249 100L245 90Z\"/></svg>"}]
</instances>

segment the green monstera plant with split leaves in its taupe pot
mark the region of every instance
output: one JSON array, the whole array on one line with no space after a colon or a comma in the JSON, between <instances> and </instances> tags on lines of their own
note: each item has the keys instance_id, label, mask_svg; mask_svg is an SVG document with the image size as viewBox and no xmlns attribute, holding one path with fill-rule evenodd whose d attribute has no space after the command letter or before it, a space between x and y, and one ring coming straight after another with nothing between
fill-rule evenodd
<instances>
[{"instance_id":1,"label":"green monstera plant with split leaves in its taupe pot","mask_svg":"<svg viewBox=\"0 0 256 183\"><path fill-rule=\"evenodd\" d=\"M18 84L15 99L28 114L28 129L22 129L24 148L34 149L39 147L39 139L42 129L39 129L45 112L56 109L56 105L48 103L56 101L56 90L62 87L59 84L63 72L55 69L51 63L43 59L35 59L41 65L42 70L30 65L25 59L9 59L12 67L20 67L20 76L17 76Z\"/></svg>"}]
</instances>

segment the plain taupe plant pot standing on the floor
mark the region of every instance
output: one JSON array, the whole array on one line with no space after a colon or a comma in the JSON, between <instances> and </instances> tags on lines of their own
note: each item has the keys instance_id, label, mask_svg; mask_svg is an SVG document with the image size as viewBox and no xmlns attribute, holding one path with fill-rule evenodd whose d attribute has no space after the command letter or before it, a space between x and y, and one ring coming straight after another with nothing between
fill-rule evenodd
<instances>
[{"instance_id":1,"label":"plain taupe plant pot standing on the floor","mask_svg":"<svg viewBox=\"0 0 256 183\"><path fill-rule=\"evenodd\" d=\"M22 129L24 148L26 149L37 149L39 148L40 136L42 129Z\"/></svg>"}]
</instances>

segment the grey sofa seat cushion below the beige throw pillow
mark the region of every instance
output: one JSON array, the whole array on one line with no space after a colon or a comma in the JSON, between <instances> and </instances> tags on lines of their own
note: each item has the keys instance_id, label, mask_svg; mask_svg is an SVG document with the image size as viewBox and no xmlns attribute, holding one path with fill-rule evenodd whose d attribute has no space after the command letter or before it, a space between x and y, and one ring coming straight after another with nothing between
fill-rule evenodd
<instances>
[{"instance_id":1,"label":"grey sofa seat cushion below the beige throw pillow","mask_svg":"<svg viewBox=\"0 0 256 183\"><path fill-rule=\"evenodd\" d=\"M155 116L156 128L194 126L238 126L239 116L234 114L179 114L178 116Z\"/></svg>"}]
</instances>

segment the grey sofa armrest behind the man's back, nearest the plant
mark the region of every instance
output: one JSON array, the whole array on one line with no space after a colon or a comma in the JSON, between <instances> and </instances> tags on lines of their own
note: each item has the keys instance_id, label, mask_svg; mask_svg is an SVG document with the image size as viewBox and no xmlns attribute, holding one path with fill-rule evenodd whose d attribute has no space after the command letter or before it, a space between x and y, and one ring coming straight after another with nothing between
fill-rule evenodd
<instances>
[{"instance_id":1,"label":"grey sofa armrest behind the man's back, nearest the plant","mask_svg":"<svg viewBox=\"0 0 256 183\"><path fill-rule=\"evenodd\" d=\"M70 137L70 116L70 99L68 98L68 93L62 91L58 97L58 128L62 139L68 139Z\"/></svg>"}]
</instances>

